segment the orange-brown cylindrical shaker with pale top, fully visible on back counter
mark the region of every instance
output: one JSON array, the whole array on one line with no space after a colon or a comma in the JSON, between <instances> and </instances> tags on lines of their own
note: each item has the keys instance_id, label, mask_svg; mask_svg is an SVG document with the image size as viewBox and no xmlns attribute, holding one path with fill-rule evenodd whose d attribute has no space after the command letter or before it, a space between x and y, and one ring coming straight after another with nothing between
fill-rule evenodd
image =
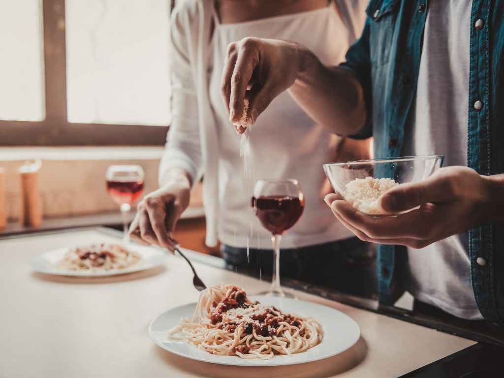
<instances>
[{"instance_id":1,"label":"orange-brown cylindrical shaker with pale top, fully visible on back counter","mask_svg":"<svg viewBox=\"0 0 504 378\"><path fill-rule=\"evenodd\" d=\"M21 180L21 214L19 220L24 226L37 227L42 223L42 209L38 191L40 160L25 162L19 167Z\"/></svg>"}]
</instances>

